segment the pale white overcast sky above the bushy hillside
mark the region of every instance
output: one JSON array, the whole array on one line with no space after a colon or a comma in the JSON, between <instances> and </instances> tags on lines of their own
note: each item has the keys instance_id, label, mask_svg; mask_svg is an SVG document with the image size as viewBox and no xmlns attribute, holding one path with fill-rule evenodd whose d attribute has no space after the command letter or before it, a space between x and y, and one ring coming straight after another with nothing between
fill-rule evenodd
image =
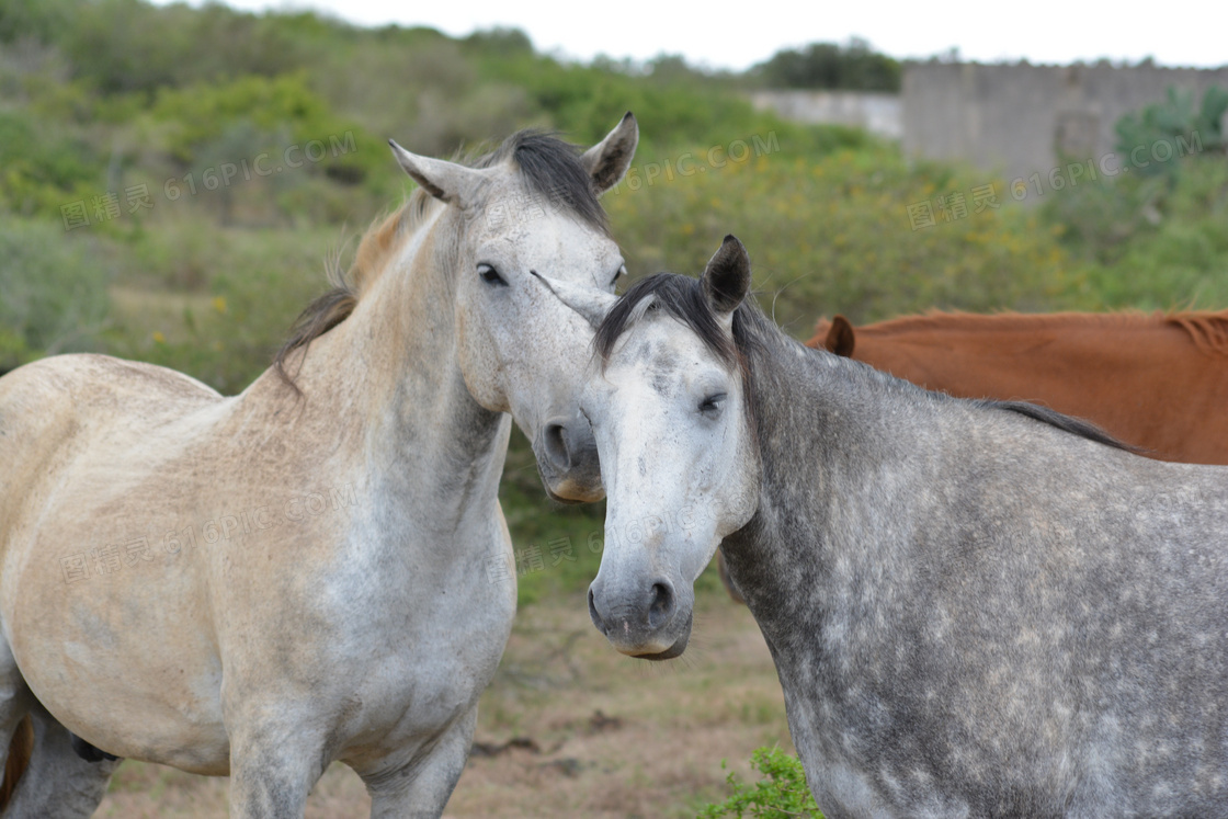
<instances>
[{"instance_id":1,"label":"pale white overcast sky above the bushy hillside","mask_svg":"<svg viewBox=\"0 0 1228 819\"><path fill-rule=\"evenodd\" d=\"M160 0L165 2L166 0ZM199 5L200 0L193 0ZM227 0L248 9L317 9L365 26L431 26L453 37L515 26L540 52L591 60L597 54L742 70L786 47L862 37L896 58L928 58L958 48L965 60L1032 63L1138 61L1228 65L1228 2L1129 4L1035 0L947 2L669 4L511 2L508 0ZM796 12L787 9L807 9Z\"/></svg>"}]
</instances>

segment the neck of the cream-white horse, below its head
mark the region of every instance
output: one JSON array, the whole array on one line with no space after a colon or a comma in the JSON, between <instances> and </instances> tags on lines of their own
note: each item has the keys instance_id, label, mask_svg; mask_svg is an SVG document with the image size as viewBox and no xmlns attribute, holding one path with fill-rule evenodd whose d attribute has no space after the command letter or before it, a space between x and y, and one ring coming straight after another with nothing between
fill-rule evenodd
<instances>
[{"instance_id":1,"label":"neck of the cream-white horse, below its head","mask_svg":"<svg viewBox=\"0 0 1228 819\"><path fill-rule=\"evenodd\" d=\"M361 453L355 465L378 502L447 537L463 518L490 519L511 417L481 408L464 384L441 219L410 237L301 367L291 361L302 398L286 409L338 449Z\"/></svg>"}]
</instances>

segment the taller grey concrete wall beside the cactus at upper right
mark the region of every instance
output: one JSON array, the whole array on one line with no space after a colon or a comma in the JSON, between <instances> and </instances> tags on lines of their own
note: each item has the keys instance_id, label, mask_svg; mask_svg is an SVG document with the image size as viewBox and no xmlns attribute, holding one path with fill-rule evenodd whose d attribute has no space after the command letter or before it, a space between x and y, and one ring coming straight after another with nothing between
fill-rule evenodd
<instances>
[{"instance_id":1,"label":"taller grey concrete wall beside the cactus at upper right","mask_svg":"<svg viewBox=\"0 0 1228 819\"><path fill-rule=\"evenodd\" d=\"M1201 103L1211 85L1228 88L1228 66L914 63L904 69L901 142L1025 179L1057 167L1060 153L1099 162L1114 151L1124 114L1162 102L1169 86L1194 90Z\"/></svg>"}]
</instances>

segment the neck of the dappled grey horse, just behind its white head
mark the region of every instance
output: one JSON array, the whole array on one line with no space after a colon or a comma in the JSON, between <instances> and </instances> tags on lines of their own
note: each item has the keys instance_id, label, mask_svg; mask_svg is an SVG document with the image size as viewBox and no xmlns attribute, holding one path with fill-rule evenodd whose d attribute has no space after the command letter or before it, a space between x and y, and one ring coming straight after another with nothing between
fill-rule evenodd
<instances>
[{"instance_id":1,"label":"neck of the dappled grey horse, just behind its white head","mask_svg":"<svg viewBox=\"0 0 1228 819\"><path fill-rule=\"evenodd\" d=\"M890 571L903 557L883 549L900 540L883 528L905 517L910 490L936 469L935 458L910 453L936 448L944 406L959 413L948 405L960 404L810 350L766 320L754 336L759 508L722 549L771 642L776 619L783 626L823 618L833 596L861 584L857 575ZM871 584L862 591L871 594Z\"/></svg>"}]
</instances>

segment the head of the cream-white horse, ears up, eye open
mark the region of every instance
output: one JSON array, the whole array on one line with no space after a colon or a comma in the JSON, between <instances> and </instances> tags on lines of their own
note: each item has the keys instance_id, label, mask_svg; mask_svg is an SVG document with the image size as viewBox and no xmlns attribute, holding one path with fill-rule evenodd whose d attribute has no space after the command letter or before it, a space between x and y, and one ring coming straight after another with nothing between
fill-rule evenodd
<instances>
[{"instance_id":1,"label":"head of the cream-white horse, ears up, eye open","mask_svg":"<svg viewBox=\"0 0 1228 819\"><path fill-rule=\"evenodd\" d=\"M592 431L576 411L593 332L538 276L613 292L623 255L597 196L626 173L637 140L629 113L585 152L522 133L476 167L392 144L405 172L448 205L435 253L449 269L453 305L438 308L454 311L465 386L481 406L512 414L556 500L602 497Z\"/></svg>"}]
</instances>

